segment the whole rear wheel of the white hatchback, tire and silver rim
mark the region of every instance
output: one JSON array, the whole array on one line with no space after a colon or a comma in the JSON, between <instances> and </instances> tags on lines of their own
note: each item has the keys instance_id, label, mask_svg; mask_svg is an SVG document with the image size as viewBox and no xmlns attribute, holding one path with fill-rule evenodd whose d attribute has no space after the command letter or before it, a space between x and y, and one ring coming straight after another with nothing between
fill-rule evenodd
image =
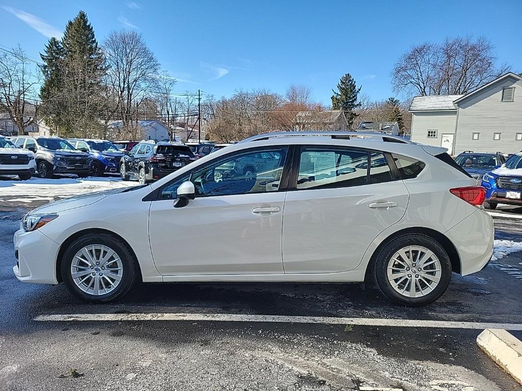
<instances>
[{"instance_id":1,"label":"whole rear wheel of the white hatchback, tire and silver rim","mask_svg":"<svg viewBox=\"0 0 522 391\"><path fill-rule=\"evenodd\" d=\"M388 299L418 307L444 294L452 264L441 243L426 235L407 234L393 238L379 251L374 275Z\"/></svg>"}]
</instances>

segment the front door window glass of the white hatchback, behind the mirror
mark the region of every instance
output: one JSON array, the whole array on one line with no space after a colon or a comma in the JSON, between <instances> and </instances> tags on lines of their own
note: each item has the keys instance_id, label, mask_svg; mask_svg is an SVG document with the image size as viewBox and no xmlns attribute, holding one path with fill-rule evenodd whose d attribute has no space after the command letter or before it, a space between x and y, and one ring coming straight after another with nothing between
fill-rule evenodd
<instances>
[{"instance_id":1,"label":"front door window glass of the white hatchback, behind the mirror","mask_svg":"<svg viewBox=\"0 0 522 391\"><path fill-rule=\"evenodd\" d=\"M287 148L228 156L192 176L196 197L231 196L279 190Z\"/></svg>"}]
</instances>

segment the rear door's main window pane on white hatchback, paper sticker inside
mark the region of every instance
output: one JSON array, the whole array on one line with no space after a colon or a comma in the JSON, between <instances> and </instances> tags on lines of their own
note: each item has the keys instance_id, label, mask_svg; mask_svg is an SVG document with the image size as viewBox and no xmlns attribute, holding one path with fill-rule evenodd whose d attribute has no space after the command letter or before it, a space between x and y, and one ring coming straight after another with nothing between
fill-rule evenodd
<instances>
[{"instance_id":1,"label":"rear door's main window pane on white hatchback, paper sticker inside","mask_svg":"<svg viewBox=\"0 0 522 391\"><path fill-rule=\"evenodd\" d=\"M297 189L352 187L367 184L368 153L357 150L301 150Z\"/></svg>"}]
</instances>

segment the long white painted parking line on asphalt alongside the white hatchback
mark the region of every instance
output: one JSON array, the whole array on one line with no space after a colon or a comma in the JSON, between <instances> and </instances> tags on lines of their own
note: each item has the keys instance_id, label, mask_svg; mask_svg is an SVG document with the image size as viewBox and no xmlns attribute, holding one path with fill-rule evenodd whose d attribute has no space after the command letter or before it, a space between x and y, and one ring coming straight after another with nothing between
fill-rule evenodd
<instances>
[{"instance_id":1,"label":"long white painted parking line on asphalt alongside the white hatchback","mask_svg":"<svg viewBox=\"0 0 522 391\"><path fill-rule=\"evenodd\" d=\"M34 318L40 322L134 322L134 321L193 321L193 322L259 322L259 323L319 323L352 324L359 326L389 327L433 327L433 328L503 328L522 331L520 323L485 323L428 321L416 319L379 319L365 317L326 317L326 316L288 316L288 315L248 315L211 313L130 313L130 314L56 314L40 315Z\"/></svg>"}]
</instances>

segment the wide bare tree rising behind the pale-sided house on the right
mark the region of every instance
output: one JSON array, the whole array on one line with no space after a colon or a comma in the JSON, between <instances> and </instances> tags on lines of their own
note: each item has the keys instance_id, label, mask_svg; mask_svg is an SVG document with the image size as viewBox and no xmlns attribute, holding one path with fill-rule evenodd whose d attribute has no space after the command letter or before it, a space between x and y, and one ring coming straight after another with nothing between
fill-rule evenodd
<instances>
[{"instance_id":1,"label":"wide bare tree rising behind the pale-sided house on the right","mask_svg":"<svg viewBox=\"0 0 522 391\"><path fill-rule=\"evenodd\" d=\"M423 43L402 55L392 71L396 92L420 95L466 94L504 74L496 66L494 47L484 37Z\"/></svg>"}]
</instances>

